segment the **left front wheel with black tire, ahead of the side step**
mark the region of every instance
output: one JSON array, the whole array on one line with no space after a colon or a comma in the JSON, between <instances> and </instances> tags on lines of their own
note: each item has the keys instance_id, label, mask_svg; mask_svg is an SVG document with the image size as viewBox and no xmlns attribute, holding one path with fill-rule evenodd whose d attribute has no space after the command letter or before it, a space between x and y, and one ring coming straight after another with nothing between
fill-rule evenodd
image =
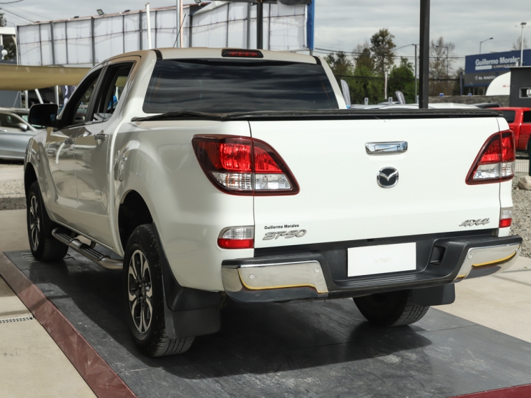
<instances>
[{"instance_id":1,"label":"left front wheel with black tire, ahead of the side step","mask_svg":"<svg viewBox=\"0 0 531 398\"><path fill-rule=\"evenodd\" d=\"M44 208L38 182L29 187L26 195L26 219L31 254L41 261L57 261L66 256L68 246L52 236L58 225L50 220Z\"/></svg>"}]
</instances>

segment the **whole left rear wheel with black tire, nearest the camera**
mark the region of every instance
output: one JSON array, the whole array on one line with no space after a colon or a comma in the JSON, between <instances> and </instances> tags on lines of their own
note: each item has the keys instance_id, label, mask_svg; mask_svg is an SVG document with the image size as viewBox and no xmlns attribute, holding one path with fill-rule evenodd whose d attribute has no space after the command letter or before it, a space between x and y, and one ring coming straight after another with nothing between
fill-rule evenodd
<instances>
[{"instance_id":1,"label":"whole left rear wheel with black tire, nearest the camera","mask_svg":"<svg viewBox=\"0 0 531 398\"><path fill-rule=\"evenodd\" d=\"M135 228L129 237L123 280L127 325L138 349L150 357L188 351L194 337L166 334L159 241L152 224Z\"/></svg>"}]
</instances>

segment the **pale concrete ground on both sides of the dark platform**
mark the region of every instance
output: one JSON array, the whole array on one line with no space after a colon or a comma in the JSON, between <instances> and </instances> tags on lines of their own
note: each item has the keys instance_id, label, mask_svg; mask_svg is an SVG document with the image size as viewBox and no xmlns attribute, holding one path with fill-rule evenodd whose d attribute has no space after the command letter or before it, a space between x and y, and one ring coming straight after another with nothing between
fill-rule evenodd
<instances>
[{"instance_id":1,"label":"pale concrete ground on both sides of the dark platform","mask_svg":"<svg viewBox=\"0 0 531 398\"><path fill-rule=\"evenodd\" d=\"M0 212L0 252L23 249L29 249L25 210ZM458 283L456 302L437 309L531 342L530 289L531 259L519 258L507 273ZM94 397L37 320L5 323L27 316L28 309L0 278L1 395Z\"/></svg>"}]
</instances>

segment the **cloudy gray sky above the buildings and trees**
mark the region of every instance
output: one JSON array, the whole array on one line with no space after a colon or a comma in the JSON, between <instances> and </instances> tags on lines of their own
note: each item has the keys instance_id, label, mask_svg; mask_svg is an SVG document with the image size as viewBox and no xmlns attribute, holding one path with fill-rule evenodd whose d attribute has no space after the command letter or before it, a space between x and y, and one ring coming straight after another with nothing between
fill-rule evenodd
<instances>
[{"instance_id":1,"label":"cloudy gray sky above the buildings and trees","mask_svg":"<svg viewBox=\"0 0 531 398\"><path fill-rule=\"evenodd\" d=\"M75 15L95 15L145 7L145 0L0 0L8 22L57 20ZM185 3L192 2L184 0ZM4 4L2 4L4 3ZM10 3L10 4L7 4ZM332 50L353 50L374 32L386 27L395 35L397 47L419 43L420 0L316 0L315 46ZM153 7L173 6L174 0L150 0ZM15 15L15 14L17 15ZM454 54L464 57L479 52L511 49L520 36L520 23L528 22L524 36L531 45L530 0L432 0L430 38L444 37L456 45ZM518 25L518 27L515 27ZM412 46L397 50L413 55ZM458 60L456 67L464 64Z\"/></svg>"}]
</instances>

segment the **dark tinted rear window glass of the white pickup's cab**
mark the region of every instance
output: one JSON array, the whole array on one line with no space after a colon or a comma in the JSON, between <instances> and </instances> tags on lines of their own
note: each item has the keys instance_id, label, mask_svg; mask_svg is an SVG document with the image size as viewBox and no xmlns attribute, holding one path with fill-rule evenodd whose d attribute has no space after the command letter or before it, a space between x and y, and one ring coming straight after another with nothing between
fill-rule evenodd
<instances>
[{"instance_id":1,"label":"dark tinted rear window glass of the white pickup's cab","mask_svg":"<svg viewBox=\"0 0 531 398\"><path fill-rule=\"evenodd\" d=\"M337 109L321 65L247 59L157 61L146 113Z\"/></svg>"}]
</instances>

